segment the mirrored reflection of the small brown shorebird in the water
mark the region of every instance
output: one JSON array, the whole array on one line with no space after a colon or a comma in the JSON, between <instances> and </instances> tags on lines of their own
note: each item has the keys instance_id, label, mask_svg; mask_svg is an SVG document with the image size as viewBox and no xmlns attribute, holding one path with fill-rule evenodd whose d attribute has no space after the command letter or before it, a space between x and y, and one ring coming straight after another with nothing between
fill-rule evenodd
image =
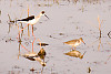
<instances>
[{"instance_id":1,"label":"mirrored reflection of the small brown shorebird in the water","mask_svg":"<svg viewBox=\"0 0 111 74\"><path fill-rule=\"evenodd\" d=\"M79 59L83 59L83 55L85 54L85 52L83 53L83 55L81 54L81 52L77 51L77 50L72 50L68 53L64 53L65 55L69 56L73 56L73 57L79 57Z\"/></svg>"}]
</instances>

